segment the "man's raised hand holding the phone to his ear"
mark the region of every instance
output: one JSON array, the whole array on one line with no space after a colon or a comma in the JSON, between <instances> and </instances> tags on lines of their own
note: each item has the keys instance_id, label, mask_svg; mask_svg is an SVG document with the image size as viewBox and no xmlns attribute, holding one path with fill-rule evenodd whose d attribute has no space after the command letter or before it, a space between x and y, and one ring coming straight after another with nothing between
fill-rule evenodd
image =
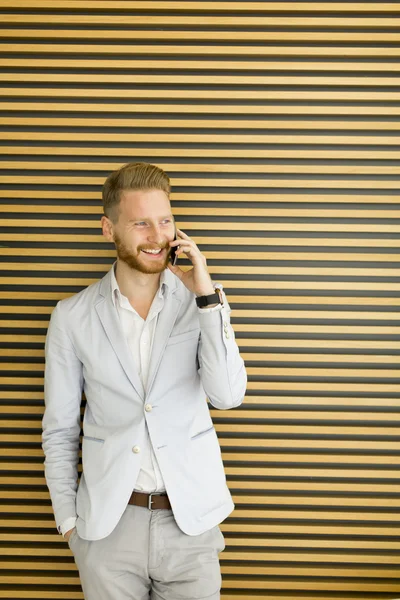
<instances>
[{"instance_id":1,"label":"man's raised hand holding the phone to his ear","mask_svg":"<svg viewBox=\"0 0 400 600\"><path fill-rule=\"evenodd\" d=\"M206 257L200 252L195 242L190 239L186 233L180 229L177 229L176 233L177 239L170 242L169 245L171 248L179 246L176 250L177 256L181 256L182 253L186 254L193 265L193 269L182 271L180 267L176 265L173 266L172 263L169 262L169 270L179 277L188 290L196 296L208 296L209 294L213 294L215 290L207 269Z\"/></svg>"}]
</instances>

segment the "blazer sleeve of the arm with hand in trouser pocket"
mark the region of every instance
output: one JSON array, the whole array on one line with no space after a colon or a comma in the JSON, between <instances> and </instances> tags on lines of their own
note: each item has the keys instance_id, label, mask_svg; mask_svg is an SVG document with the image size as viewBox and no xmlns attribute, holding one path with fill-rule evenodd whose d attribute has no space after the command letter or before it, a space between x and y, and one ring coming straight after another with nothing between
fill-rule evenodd
<instances>
[{"instance_id":1,"label":"blazer sleeve of the arm with hand in trouser pocket","mask_svg":"<svg viewBox=\"0 0 400 600\"><path fill-rule=\"evenodd\" d=\"M83 369L67 332L63 305L54 309L47 332L43 451L45 476L57 528L76 516L80 405Z\"/></svg>"}]
</instances>

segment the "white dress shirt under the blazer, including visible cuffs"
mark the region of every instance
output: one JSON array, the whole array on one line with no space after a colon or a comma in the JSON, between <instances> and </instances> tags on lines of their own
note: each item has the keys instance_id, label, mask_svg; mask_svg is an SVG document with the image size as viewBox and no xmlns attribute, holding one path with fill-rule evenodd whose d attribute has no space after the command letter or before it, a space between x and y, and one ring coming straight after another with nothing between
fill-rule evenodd
<instances>
[{"instance_id":1,"label":"white dress shirt under the blazer, including visible cuffs","mask_svg":"<svg viewBox=\"0 0 400 600\"><path fill-rule=\"evenodd\" d=\"M160 276L160 286L158 292L154 296L149 314L146 319L143 319L132 307L128 298L121 294L115 277L116 265L117 263L115 262L114 268L111 270L112 301L128 342L133 363L142 380L143 388L146 391L154 333L157 326L158 315L164 306L164 294L167 293L168 283L165 278L165 271L163 271ZM215 287L219 287L219 284L216 284ZM223 300L225 301L225 295L222 290L221 292ZM222 305L218 304L213 308L199 308L198 310L200 312L214 312L221 309ZM147 427L146 436L140 450L142 463L136 480L135 490L147 494L151 492L165 492L164 480L158 466L157 458L154 454ZM76 517L66 519L60 526L60 533L64 535L67 531L73 529L75 523Z\"/></svg>"}]
</instances>

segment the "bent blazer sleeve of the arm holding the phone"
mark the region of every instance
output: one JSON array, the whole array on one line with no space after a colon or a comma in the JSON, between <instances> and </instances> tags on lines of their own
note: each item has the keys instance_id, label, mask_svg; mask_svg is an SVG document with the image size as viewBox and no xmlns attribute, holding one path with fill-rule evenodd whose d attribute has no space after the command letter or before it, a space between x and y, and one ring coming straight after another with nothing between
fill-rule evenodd
<instances>
[{"instance_id":1,"label":"bent blazer sleeve of the arm holding the phone","mask_svg":"<svg viewBox=\"0 0 400 600\"><path fill-rule=\"evenodd\" d=\"M222 292L222 286L214 284ZM204 391L215 408L239 406L246 393L247 375L235 333L230 323L231 309L222 292L224 304L217 310L199 310L199 374Z\"/></svg>"}]
</instances>

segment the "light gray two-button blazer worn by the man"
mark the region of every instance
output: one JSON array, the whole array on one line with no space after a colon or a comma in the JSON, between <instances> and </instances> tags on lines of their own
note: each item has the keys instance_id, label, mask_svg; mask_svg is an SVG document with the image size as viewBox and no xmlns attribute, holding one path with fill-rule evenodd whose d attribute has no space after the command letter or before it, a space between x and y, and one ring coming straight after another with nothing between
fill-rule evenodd
<instances>
[{"instance_id":1,"label":"light gray two-button blazer worn by the man","mask_svg":"<svg viewBox=\"0 0 400 600\"><path fill-rule=\"evenodd\" d=\"M45 475L57 526L77 516L78 534L85 539L106 537L122 516L141 464L133 448L140 448L146 424L182 531L207 531L234 508L206 402L207 396L215 408L233 408L245 394L246 372L229 305L200 314L181 281L169 270L166 278L146 393L112 303L110 272L59 302L51 316ZM87 404L78 486L82 390Z\"/></svg>"}]
</instances>

